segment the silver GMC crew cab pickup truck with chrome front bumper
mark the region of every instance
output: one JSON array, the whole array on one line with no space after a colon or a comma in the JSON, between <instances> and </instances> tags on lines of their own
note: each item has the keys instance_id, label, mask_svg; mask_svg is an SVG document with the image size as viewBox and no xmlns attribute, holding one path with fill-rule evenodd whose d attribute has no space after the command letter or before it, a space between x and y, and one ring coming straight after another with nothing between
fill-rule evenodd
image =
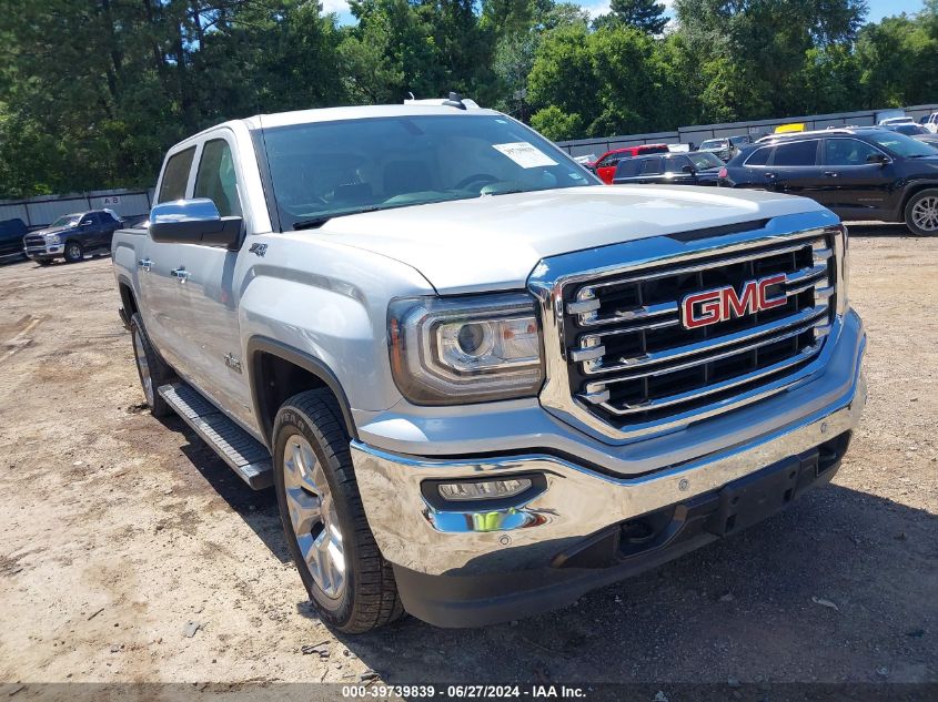
<instances>
[{"instance_id":1,"label":"silver GMC crew cab pickup truck with chrome front bumper","mask_svg":"<svg viewBox=\"0 0 938 702\"><path fill-rule=\"evenodd\" d=\"M828 210L604 186L458 100L221 124L157 203L112 250L147 401L274 487L345 632L516 619L735 533L830 479L866 401Z\"/></svg>"}]
</instances>

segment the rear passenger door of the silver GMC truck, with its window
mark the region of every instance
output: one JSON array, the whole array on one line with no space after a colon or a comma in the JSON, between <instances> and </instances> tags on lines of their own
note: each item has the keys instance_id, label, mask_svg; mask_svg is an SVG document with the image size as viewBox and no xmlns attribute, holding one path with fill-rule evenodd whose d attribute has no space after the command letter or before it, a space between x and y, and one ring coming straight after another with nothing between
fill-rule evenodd
<instances>
[{"instance_id":1,"label":"rear passenger door of the silver GMC truck, with its window","mask_svg":"<svg viewBox=\"0 0 938 702\"><path fill-rule=\"evenodd\" d=\"M195 146L170 153L157 189L157 204L182 200L195 165ZM179 278L173 275L185 244L157 243L148 234L137 247L140 314L157 350L178 372L188 373L185 312Z\"/></svg>"}]
</instances>

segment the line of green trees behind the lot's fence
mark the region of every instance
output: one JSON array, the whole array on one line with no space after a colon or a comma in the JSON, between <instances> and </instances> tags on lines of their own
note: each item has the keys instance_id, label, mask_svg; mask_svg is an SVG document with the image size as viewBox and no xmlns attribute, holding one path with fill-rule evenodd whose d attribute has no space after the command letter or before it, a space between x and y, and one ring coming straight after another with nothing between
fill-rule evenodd
<instances>
[{"instance_id":1,"label":"line of green trees behind the lot's fence","mask_svg":"<svg viewBox=\"0 0 938 702\"><path fill-rule=\"evenodd\" d=\"M152 186L263 112L455 90L554 140L938 100L938 0L6 0L0 197Z\"/></svg>"}]
</instances>

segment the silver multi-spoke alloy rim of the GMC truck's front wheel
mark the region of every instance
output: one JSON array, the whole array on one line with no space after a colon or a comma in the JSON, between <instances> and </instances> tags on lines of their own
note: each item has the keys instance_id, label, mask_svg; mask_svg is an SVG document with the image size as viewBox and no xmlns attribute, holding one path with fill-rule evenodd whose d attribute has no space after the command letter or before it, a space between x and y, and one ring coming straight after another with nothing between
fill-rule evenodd
<instances>
[{"instance_id":1,"label":"silver multi-spoke alloy rim of the GMC truck's front wheel","mask_svg":"<svg viewBox=\"0 0 938 702\"><path fill-rule=\"evenodd\" d=\"M283 487L290 523L313 581L336 600L345 589L345 551L325 474L310 442L293 434L283 449Z\"/></svg>"}]
</instances>

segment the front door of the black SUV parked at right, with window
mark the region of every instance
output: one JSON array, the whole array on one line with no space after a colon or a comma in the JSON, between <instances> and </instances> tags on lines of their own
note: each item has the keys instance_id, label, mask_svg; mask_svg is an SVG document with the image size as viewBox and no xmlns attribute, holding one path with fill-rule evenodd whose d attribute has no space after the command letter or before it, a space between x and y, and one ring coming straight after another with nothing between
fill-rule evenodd
<instances>
[{"instance_id":1,"label":"front door of the black SUV parked at right, with window","mask_svg":"<svg viewBox=\"0 0 938 702\"><path fill-rule=\"evenodd\" d=\"M870 163L871 157L882 161ZM891 214L896 173L885 152L851 136L828 136L821 165L826 187L818 202L823 205L845 220L877 220Z\"/></svg>"}]
</instances>

